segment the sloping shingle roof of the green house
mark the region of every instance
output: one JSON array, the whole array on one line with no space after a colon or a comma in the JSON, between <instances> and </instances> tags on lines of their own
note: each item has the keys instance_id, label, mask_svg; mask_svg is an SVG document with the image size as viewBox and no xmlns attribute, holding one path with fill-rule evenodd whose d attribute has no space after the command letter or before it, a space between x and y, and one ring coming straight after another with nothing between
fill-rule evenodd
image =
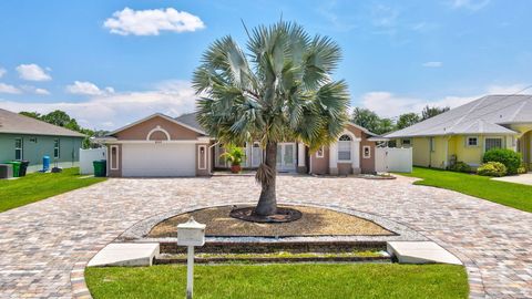
<instances>
[{"instance_id":1,"label":"sloping shingle roof of the green house","mask_svg":"<svg viewBox=\"0 0 532 299\"><path fill-rule=\"evenodd\" d=\"M84 137L85 135L0 109L0 133Z\"/></svg>"}]
</instances>

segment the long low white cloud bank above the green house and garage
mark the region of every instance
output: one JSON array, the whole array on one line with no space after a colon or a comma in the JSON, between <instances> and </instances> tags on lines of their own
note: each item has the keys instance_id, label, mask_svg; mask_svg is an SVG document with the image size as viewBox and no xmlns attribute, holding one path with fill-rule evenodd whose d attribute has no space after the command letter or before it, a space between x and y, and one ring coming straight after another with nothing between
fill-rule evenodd
<instances>
[{"instance_id":1,"label":"long low white cloud bank above the green house and garage","mask_svg":"<svg viewBox=\"0 0 532 299\"><path fill-rule=\"evenodd\" d=\"M196 99L190 82L166 81L152 91L106 93L94 95L83 102L19 103L0 100L0 106L14 112L39 113L59 109L75 117L84 127L113 130L156 112L171 116L192 112Z\"/></svg>"}]
</instances>

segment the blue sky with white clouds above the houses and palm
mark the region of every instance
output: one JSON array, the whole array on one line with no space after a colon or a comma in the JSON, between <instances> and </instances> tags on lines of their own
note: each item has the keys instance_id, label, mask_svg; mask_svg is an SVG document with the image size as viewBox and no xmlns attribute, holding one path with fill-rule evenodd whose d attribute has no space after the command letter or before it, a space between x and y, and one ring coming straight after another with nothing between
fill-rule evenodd
<instances>
[{"instance_id":1,"label":"blue sky with white clouds above the houses and palm","mask_svg":"<svg viewBox=\"0 0 532 299\"><path fill-rule=\"evenodd\" d=\"M193 112L202 53L280 18L342 49L351 106L381 116L532 85L532 1L0 1L0 107L113 130ZM522 93L530 93L528 89Z\"/></svg>"}]
</instances>

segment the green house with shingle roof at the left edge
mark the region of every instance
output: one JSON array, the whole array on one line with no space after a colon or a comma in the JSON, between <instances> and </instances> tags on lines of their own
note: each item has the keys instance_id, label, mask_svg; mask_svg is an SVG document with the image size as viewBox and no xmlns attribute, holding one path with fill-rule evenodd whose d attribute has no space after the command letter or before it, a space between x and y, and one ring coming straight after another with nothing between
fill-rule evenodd
<instances>
[{"instance_id":1,"label":"green house with shingle roof at the left edge","mask_svg":"<svg viewBox=\"0 0 532 299\"><path fill-rule=\"evenodd\" d=\"M27 159L28 172L37 172L42 157L50 156L50 167L55 163L74 167L83 138L81 133L0 109L0 163Z\"/></svg>"}]
</instances>

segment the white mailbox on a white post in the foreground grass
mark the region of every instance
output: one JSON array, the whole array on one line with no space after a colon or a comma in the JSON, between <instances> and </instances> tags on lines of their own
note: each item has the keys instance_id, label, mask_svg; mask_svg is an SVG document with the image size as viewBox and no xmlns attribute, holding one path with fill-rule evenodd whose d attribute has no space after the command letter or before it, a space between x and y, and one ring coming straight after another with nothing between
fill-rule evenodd
<instances>
[{"instance_id":1,"label":"white mailbox on a white post in the foreground grass","mask_svg":"<svg viewBox=\"0 0 532 299\"><path fill-rule=\"evenodd\" d=\"M187 246L186 256L186 299L192 299L194 279L194 246L205 244L205 225L191 217L188 221L177 225L177 245Z\"/></svg>"}]
</instances>

